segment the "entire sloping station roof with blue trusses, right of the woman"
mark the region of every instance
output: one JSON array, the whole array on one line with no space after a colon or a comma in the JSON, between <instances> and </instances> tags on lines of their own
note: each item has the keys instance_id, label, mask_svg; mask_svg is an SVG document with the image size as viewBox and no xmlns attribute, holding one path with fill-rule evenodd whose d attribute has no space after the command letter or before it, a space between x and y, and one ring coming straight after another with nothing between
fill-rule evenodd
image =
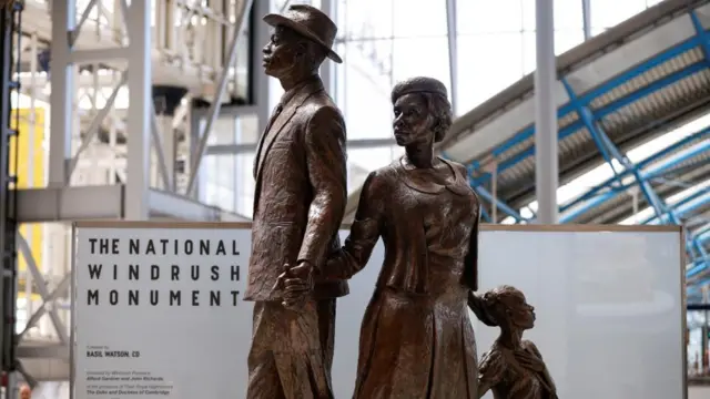
<instances>
[{"instance_id":1,"label":"entire sloping station roof with blue trusses, right of the woman","mask_svg":"<svg viewBox=\"0 0 710 399\"><path fill-rule=\"evenodd\" d=\"M557 58L560 223L681 224L693 287L710 277L709 3L662 1ZM468 165L485 221L532 222L534 74L438 150Z\"/></svg>"}]
</instances>

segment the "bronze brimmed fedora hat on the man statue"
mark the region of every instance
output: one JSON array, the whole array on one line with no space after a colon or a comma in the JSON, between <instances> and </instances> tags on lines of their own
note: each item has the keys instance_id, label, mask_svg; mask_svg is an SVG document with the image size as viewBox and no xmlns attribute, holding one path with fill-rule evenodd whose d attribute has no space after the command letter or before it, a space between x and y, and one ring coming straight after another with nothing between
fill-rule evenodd
<instances>
[{"instance_id":1,"label":"bronze brimmed fedora hat on the man statue","mask_svg":"<svg viewBox=\"0 0 710 399\"><path fill-rule=\"evenodd\" d=\"M333 51L333 42L337 27L328 16L315 7L293 4L283 14L271 13L264 17L264 22L272 27L291 28L310 40L323 45L328 51L328 58L337 63L343 60Z\"/></svg>"}]
</instances>

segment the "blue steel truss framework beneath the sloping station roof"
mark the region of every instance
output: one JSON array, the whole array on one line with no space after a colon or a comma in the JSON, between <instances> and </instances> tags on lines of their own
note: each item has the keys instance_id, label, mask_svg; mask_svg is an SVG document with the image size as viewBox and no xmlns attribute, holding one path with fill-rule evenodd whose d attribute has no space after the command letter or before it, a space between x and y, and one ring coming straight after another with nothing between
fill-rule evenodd
<instances>
[{"instance_id":1,"label":"blue steel truss framework beneath the sloping station roof","mask_svg":"<svg viewBox=\"0 0 710 399\"><path fill-rule=\"evenodd\" d=\"M584 193L576 200L560 206L560 223L574 222L580 215L589 212L590 209L599 206L600 204L610 201L618 195L627 192L631 187L638 187L643 195L646 202L653 209L653 216L645 221L642 224L676 224L682 225L683 219L692 215L696 211L702 209L703 206L710 202L710 192L708 188L700 190L689 197L676 203L668 204L667 200L659 195L651 185L652 182L658 182L663 178L663 175L693 157L697 157L703 153L710 151L710 127L706 127L678 143L659 151L656 154L642 160L640 162L631 162L626 154L623 154L605 134L601 129L600 121L605 116L608 116L620 109L639 101L648 95L651 95L669 85L672 85L688 76L691 76L700 71L710 68L710 33L702 28L698 16L694 11L689 12L693 27L696 28L696 35L668 49L657 55L648 59L641 64L636 65L627 70L626 72L608 80L607 82L598 85L584 94L577 94L572 90L571 85L565 78L561 82L569 95L569 102L560 106L557 111L558 117L561 119L570 113L577 113L579 116L577 121L560 129L558 132L558 140L561 141L567 136L586 129L589 135L594 140L597 149L604 161L613 171L613 176L608 181L599 184L598 186ZM642 75L650 70L662 65L667 61L670 61L691 49L700 48L703 51L703 60L692 63L681 70L672 72L662 79L659 79L643 88L640 88L627 95L612 101L599 109L591 110L590 105L596 99L611 92L620 85L629 82L630 80ZM526 129L514 135L511 139L503 142L497 147L493 149L491 155L498 157L514 146L531 139L535 135L535 124L528 125ZM700 143L689 149L682 150L690 143ZM682 150L682 151L681 151ZM501 173L517 163L534 156L535 146L527 149L518 153L517 155L501 162L497 165L497 173ZM620 167L619 167L620 165ZM490 172L481 171L478 161L473 161L468 165L470 172L470 184L478 195L488 202L491 206L494 203L493 194L485 188L485 184L489 184L493 174ZM528 222L529 218L524 217L520 213L508 204L496 200L496 205L504 214L513 217L516 223ZM490 221L490 215L485 214L484 218ZM687 252L691 259L688 265L688 277L696 277L700 274L710 272L710 258L706 250L706 245L710 242L710 224L696 229L691 233L688 228L684 228L687 239ZM707 280L702 280L702 284L710 284L710 277Z\"/></svg>"}]
</instances>

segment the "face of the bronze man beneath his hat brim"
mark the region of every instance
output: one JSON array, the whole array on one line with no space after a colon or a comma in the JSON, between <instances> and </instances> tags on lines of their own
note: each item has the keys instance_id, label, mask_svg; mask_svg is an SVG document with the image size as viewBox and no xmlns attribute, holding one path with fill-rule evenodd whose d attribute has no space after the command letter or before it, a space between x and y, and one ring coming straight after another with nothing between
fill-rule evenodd
<instances>
[{"instance_id":1,"label":"face of the bronze man beneath his hat brim","mask_svg":"<svg viewBox=\"0 0 710 399\"><path fill-rule=\"evenodd\" d=\"M298 45L295 32L282 27L274 29L271 40L262 49L264 73L276 79L287 78L296 66Z\"/></svg>"}]
</instances>

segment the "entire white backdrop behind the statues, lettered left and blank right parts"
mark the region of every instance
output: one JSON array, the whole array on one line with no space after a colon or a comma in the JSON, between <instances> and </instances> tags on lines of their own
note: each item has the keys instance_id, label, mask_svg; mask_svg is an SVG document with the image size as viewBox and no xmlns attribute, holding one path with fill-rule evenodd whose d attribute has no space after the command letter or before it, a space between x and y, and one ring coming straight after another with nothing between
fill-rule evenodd
<instances>
[{"instance_id":1,"label":"entire white backdrop behind the statues, lettered left and blank right parts","mask_svg":"<svg viewBox=\"0 0 710 399\"><path fill-rule=\"evenodd\" d=\"M125 226L125 225L122 225ZM200 226L200 225L195 225ZM143 395L87 395L88 371L144 371L172 385L166 398L244 398L246 354L251 340L252 304L242 301L245 288L250 231L246 228L78 228L74 265L74 398L132 399ZM344 238L347 232L341 233ZM91 254L90 238L210 239L227 243L223 255L119 255ZM684 346L681 301L679 233L658 232L504 232L484 231L480 238L480 286L500 284L520 288L536 306L538 326L526 335L536 341L558 383L561 398L668 399L681 398ZM241 252L230 256L231 243ZM172 243L172 242L171 242ZM351 295L338 300L333 383L336 398L353 392L359 325L372 296L384 257L377 245L368 266L351 282ZM119 279L91 279L89 264L114 264ZM156 280L128 280L130 264L161 266ZM220 266L213 280L173 282L173 264L187 277L193 264ZM241 266L239 282L230 277ZM110 269L108 269L110 270ZM106 272L106 270L104 270ZM87 305L87 290L99 289L101 306ZM123 293L112 306L105 293ZM150 293L183 290L181 306L126 305L129 289ZM199 305L192 291L200 290ZM239 290L234 306L230 293ZM210 306L210 291L222 291L221 306ZM142 294L145 295L145 294ZM150 294L148 294L150 295ZM161 294L159 294L161 295ZM165 295L165 294L163 294ZM150 298L150 297L148 297ZM141 296L141 299L144 299ZM161 296L159 299L163 300ZM474 323L478 352L487 350L498 334ZM90 346L140 351L134 358L87 356ZM115 385L108 381L104 385ZM129 383L131 383L129 381ZM158 381L155 385L163 382ZM139 390L140 392L140 390ZM150 393L150 395L149 395ZM487 397L489 398L489 396Z\"/></svg>"}]
</instances>

